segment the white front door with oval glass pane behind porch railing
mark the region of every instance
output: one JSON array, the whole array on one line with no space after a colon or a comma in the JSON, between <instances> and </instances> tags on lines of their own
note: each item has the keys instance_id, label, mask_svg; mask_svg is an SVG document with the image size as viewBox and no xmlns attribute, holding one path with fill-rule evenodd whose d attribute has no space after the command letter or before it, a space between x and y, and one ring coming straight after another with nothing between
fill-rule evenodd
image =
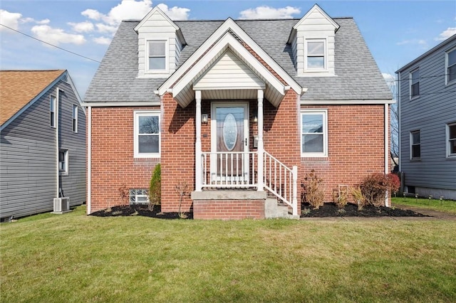
<instances>
[{"instance_id":1,"label":"white front door with oval glass pane behind porch railing","mask_svg":"<svg viewBox=\"0 0 456 303\"><path fill-rule=\"evenodd\" d=\"M249 180L249 104L212 103L212 184L246 184Z\"/></svg>"}]
</instances>

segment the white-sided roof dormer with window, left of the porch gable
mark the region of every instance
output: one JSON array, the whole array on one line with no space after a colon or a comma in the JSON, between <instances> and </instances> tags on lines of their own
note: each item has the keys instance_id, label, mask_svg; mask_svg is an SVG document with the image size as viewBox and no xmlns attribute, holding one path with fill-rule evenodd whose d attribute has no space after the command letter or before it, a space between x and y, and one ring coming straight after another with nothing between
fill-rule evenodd
<instances>
[{"instance_id":1,"label":"white-sided roof dormer with window, left of the porch gable","mask_svg":"<svg viewBox=\"0 0 456 303\"><path fill-rule=\"evenodd\" d=\"M180 28L157 6L138 26L138 78L168 78L179 63L185 39Z\"/></svg>"}]
</instances>

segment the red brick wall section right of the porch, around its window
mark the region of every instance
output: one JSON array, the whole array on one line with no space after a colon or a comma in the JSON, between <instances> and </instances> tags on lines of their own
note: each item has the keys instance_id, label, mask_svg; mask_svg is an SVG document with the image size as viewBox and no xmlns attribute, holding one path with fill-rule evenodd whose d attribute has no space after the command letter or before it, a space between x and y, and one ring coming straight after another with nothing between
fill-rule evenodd
<instances>
[{"instance_id":1,"label":"red brick wall section right of the porch, around its window","mask_svg":"<svg viewBox=\"0 0 456 303\"><path fill-rule=\"evenodd\" d=\"M384 172L383 105L327 105L301 108L328 110L328 157L301 158L299 182L314 169L323 179L325 201L332 201L332 190L338 188L338 184L353 188L364 176ZM349 201L352 200L350 197Z\"/></svg>"}]
</instances>

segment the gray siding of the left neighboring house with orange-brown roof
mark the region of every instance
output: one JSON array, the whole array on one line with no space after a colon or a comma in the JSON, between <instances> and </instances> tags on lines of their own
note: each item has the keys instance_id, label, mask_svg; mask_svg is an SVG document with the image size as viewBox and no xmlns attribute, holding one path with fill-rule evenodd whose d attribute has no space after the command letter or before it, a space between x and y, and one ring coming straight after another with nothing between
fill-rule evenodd
<instances>
[{"instance_id":1,"label":"gray siding of the left neighboring house with orange-brown roof","mask_svg":"<svg viewBox=\"0 0 456 303\"><path fill-rule=\"evenodd\" d=\"M63 90L59 119L61 146L70 151L70 174L62 176L63 191L70 197L72 206L86 201L86 117L80 107L79 132L73 134L72 120L68 125L64 120L68 115L72 117L73 104L78 104L78 100L71 85L60 81L1 131L0 218L53 210L58 166L56 129L50 126L49 97L57 95L57 87Z\"/></svg>"}]
</instances>

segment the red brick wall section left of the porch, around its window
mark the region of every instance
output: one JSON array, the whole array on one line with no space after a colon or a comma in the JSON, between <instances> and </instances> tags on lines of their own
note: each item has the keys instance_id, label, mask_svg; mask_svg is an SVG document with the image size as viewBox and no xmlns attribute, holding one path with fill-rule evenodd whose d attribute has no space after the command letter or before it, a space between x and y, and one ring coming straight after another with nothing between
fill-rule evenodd
<instances>
[{"instance_id":1,"label":"red brick wall section left of the porch, around its window","mask_svg":"<svg viewBox=\"0 0 456 303\"><path fill-rule=\"evenodd\" d=\"M119 188L149 188L160 159L133 157L133 111L159 107L92 107L90 211L120 205Z\"/></svg>"}]
</instances>

